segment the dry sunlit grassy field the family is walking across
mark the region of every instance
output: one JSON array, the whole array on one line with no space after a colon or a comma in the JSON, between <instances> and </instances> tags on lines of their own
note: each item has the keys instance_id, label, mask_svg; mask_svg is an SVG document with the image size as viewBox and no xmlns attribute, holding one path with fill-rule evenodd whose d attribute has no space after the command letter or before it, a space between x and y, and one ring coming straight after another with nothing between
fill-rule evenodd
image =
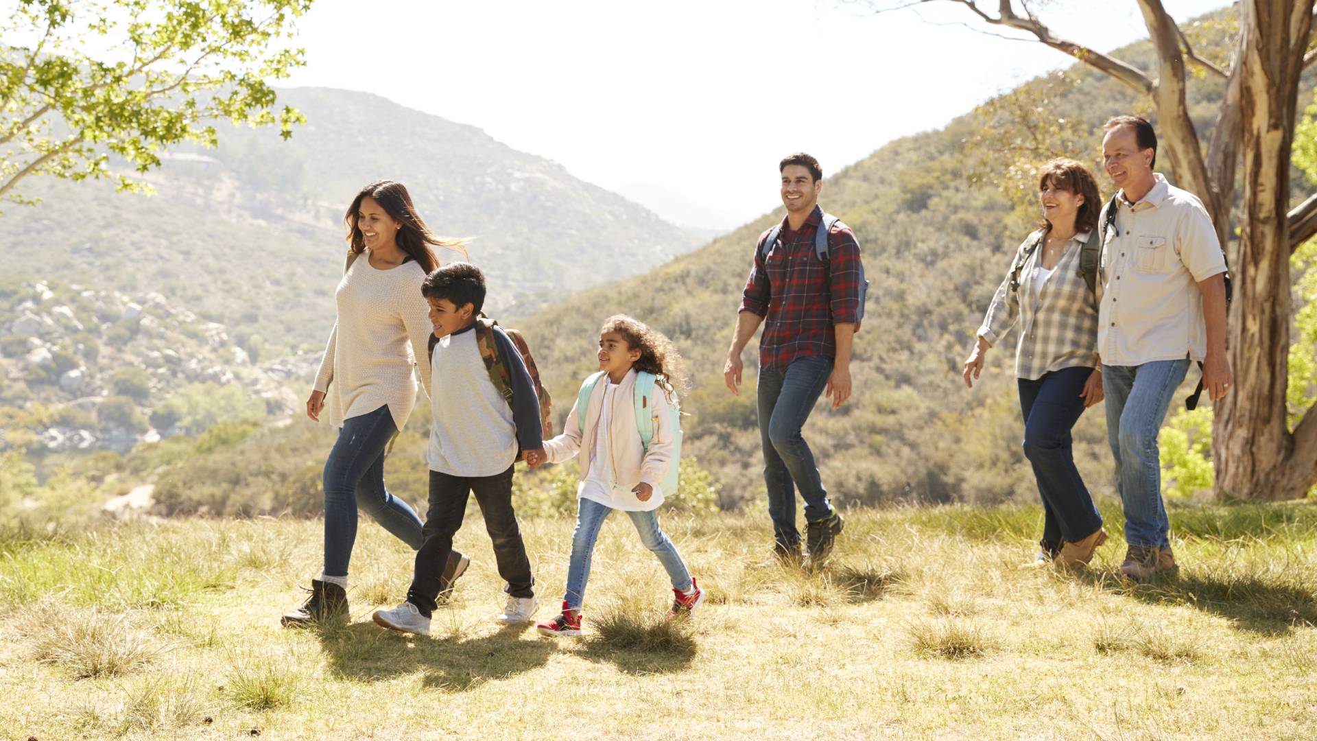
<instances>
[{"instance_id":1,"label":"dry sunlit grassy field the family is walking across","mask_svg":"<svg viewBox=\"0 0 1317 741\"><path fill-rule=\"evenodd\" d=\"M765 564L766 517L669 514L710 600L603 530L586 636L499 629L475 562L433 636L381 630L411 554L363 522L352 622L279 628L320 523L133 523L0 542L0 737L1313 738L1317 506L1172 510L1181 576L1131 585L1119 514L1093 568L1022 568L1035 509L852 510L826 570ZM539 617L572 523L524 523Z\"/></svg>"}]
</instances>

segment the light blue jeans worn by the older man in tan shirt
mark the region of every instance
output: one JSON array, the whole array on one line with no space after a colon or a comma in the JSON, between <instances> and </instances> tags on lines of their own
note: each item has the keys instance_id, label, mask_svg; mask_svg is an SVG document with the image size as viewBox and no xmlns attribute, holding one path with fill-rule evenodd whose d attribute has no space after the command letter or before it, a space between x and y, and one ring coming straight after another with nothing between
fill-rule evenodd
<instances>
[{"instance_id":1,"label":"light blue jeans worn by the older man in tan shirt","mask_svg":"<svg viewBox=\"0 0 1317 741\"><path fill-rule=\"evenodd\" d=\"M1102 367L1106 436L1115 458L1115 485L1125 508L1125 539L1131 546L1171 547L1156 435L1188 372L1188 357Z\"/></svg>"}]
</instances>

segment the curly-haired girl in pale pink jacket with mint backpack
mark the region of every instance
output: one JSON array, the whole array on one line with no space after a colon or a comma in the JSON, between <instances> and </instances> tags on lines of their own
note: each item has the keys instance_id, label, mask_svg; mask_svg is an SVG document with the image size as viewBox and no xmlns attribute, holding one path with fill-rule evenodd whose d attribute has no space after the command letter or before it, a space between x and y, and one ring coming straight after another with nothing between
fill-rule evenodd
<instances>
[{"instance_id":1,"label":"curly-haired girl in pale pink jacket with mint backpack","mask_svg":"<svg viewBox=\"0 0 1317 741\"><path fill-rule=\"evenodd\" d=\"M581 467L576 533L562 614L540 624L544 636L579 636L581 603L590 576L590 555L599 526L620 509L640 539L672 578L676 600L669 617L689 614L705 593L686 570L677 547L658 527L664 485L677 477L681 431L677 389L686 384L677 348L662 334L631 316L610 316L599 331L599 372L581 385L562 434L544 442L544 458L573 456Z\"/></svg>"}]
</instances>

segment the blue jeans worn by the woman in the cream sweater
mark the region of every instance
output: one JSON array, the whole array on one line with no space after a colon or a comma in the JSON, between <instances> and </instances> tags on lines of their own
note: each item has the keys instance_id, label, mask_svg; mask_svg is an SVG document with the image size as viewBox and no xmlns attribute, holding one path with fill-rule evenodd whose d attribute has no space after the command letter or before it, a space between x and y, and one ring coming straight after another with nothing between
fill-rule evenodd
<instances>
[{"instance_id":1,"label":"blue jeans worn by the woman in the cream sweater","mask_svg":"<svg viewBox=\"0 0 1317 741\"><path fill-rule=\"evenodd\" d=\"M348 575L352 546L357 542L358 508L412 550L421 545L420 518L385 488L385 448L394 431L389 405L342 421L323 475L325 576Z\"/></svg>"}]
</instances>

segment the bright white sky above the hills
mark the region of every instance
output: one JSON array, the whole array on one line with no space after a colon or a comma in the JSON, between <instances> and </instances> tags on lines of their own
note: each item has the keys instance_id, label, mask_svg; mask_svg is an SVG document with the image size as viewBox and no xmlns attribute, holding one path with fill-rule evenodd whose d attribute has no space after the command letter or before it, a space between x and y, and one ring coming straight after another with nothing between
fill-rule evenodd
<instances>
[{"instance_id":1,"label":"bright white sky above the hills","mask_svg":"<svg viewBox=\"0 0 1317 741\"><path fill-rule=\"evenodd\" d=\"M1226 3L1163 4L1185 24ZM1101 50L1147 36L1134 0L1038 5L1059 36ZM1009 32L963 7L918 13L831 0L316 0L299 21L307 66L281 84L375 92L601 186L655 183L749 219L778 203L789 152L835 173L1071 63L979 33Z\"/></svg>"}]
</instances>

